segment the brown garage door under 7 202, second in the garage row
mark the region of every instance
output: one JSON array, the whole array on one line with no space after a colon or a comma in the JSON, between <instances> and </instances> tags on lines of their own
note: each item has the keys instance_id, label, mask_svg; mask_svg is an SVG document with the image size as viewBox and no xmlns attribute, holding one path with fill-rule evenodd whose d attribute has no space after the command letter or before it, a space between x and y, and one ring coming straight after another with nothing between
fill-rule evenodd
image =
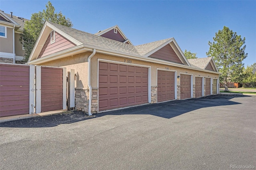
<instances>
[{"instance_id":1,"label":"brown garage door under 7 202, second in the garage row","mask_svg":"<svg viewBox=\"0 0 256 170\"><path fill-rule=\"evenodd\" d=\"M174 72L157 71L157 102L174 100Z\"/></svg>"}]
</instances>

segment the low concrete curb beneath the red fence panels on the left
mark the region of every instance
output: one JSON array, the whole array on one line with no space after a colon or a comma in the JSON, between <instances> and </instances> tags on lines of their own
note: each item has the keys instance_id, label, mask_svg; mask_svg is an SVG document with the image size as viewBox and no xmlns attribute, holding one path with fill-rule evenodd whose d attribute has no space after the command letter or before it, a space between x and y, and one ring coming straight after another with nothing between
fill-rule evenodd
<instances>
[{"instance_id":1,"label":"low concrete curb beneath the red fence panels on the left","mask_svg":"<svg viewBox=\"0 0 256 170\"><path fill-rule=\"evenodd\" d=\"M8 117L0 117L0 123L2 122L8 122L8 121L16 121L20 119L28 119L32 117L40 117L40 116L48 116L48 115L55 115L62 112L65 112L66 110L58 110L58 111L50 111L50 112L44 112L44 113L34 113L31 115L17 115L17 116L8 116Z\"/></svg>"}]
</instances>

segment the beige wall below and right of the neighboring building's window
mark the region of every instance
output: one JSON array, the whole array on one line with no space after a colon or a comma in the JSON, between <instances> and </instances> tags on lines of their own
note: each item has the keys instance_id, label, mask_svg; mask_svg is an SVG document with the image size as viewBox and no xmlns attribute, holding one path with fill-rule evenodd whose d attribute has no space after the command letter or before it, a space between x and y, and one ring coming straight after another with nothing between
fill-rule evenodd
<instances>
[{"instance_id":1,"label":"beige wall below and right of the neighboring building's window","mask_svg":"<svg viewBox=\"0 0 256 170\"><path fill-rule=\"evenodd\" d=\"M12 32L12 28L7 28L6 32L7 32L7 38L0 38L0 52L4 52L4 53L13 53L13 32Z\"/></svg>"}]
</instances>

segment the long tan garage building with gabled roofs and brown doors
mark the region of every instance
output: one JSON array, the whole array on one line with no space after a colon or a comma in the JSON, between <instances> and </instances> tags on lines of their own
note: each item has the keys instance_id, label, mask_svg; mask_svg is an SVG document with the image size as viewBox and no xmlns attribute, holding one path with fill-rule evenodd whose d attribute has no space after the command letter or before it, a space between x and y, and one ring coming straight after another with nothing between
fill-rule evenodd
<instances>
[{"instance_id":1,"label":"long tan garage building with gabled roofs and brown doors","mask_svg":"<svg viewBox=\"0 0 256 170\"><path fill-rule=\"evenodd\" d=\"M89 114L219 93L212 58L187 60L174 38L134 46L118 26L94 35L45 22L28 64L74 69L75 108Z\"/></svg>"}]
</instances>

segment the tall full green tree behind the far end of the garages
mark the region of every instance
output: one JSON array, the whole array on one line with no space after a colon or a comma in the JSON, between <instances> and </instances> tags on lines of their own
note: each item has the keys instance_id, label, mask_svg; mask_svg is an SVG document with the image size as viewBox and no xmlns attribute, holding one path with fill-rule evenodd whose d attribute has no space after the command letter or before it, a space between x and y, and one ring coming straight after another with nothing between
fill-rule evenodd
<instances>
[{"instance_id":1,"label":"tall full green tree behind the far end of the garages","mask_svg":"<svg viewBox=\"0 0 256 170\"><path fill-rule=\"evenodd\" d=\"M248 55L244 52L245 38L242 39L236 32L224 26L215 34L213 40L214 42L208 42L210 49L206 55L213 57L216 66L222 73L220 81L225 83L225 91L228 91L228 82L238 82L242 77L244 67L242 61Z\"/></svg>"}]
</instances>

